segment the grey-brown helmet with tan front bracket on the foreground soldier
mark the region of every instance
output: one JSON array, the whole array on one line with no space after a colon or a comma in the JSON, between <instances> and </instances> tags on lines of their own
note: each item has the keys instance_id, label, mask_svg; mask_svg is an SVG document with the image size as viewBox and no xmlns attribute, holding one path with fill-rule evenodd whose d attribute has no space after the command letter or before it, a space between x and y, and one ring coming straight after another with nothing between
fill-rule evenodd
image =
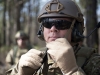
<instances>
[{"instance_id":1,"label":"grey-brown helmet with tan front bracket on the foreground soldier","mask_svg":"<svg viewBox=\"0 0 100 75\"><path fill-rule=\"evenodd\" d=\"M73 18L73 25L78 27L73 27L73 32L78 31L78 34L83 34L84 31L84 19L83 14L78 7L78 5L72 0L51 0L47 2L38 16L38 21L41 23L43 18ZM72 25L72 26L73 26ZM81 26L81 27L80 27ZM41 28L40 28L41 29ZM72 37L78 38L77 40L74 39L72 41L77 42L79 41L79 36L76 36L77 32L72 33Z\"/></svg>"}]
</instances>

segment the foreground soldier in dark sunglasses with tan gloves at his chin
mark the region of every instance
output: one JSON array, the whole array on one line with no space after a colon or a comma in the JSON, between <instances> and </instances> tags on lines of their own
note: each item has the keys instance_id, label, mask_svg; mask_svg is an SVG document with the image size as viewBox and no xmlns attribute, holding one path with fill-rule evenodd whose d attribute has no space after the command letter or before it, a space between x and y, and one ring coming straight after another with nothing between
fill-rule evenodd
<instances>
[{"instance_id":1,"label":"foreground soldier in dark sunglasses with tan gloves at his chin","mask_svg":"<svg viewBox=\"0 0 100 75\"><path fill-rule=\"evenodd\" d=\"M8 75L100 75L100 56L94 48L81 47L84 19L72 0L51 0L40 11L38 36L42 50L21 56Z\"/></svg>"}]
</instances>

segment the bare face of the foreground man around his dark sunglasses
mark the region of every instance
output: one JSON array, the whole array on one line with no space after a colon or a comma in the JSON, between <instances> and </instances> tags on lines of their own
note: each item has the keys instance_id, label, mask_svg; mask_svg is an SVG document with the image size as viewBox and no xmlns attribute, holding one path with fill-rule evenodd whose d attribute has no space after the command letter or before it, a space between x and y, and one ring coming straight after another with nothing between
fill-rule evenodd
<instances>
[{"instance_id":1,"label":"bare face of the foreground man around his dark sunglasses","mask_svg":"<svg viewBox=\"0 0 100 75\"><path fill-rule=\"evenodd\" d=\"M52 19L54 19L54 20L65 20L65 21L72 23L71 19L69 19L69 18L52 18ZM58 22L58 24L62 25L59 22ZM67 23L65 25L67 25ZM44 34L44 39L46 40L46 42L54 41L57 38L66 38L69 42L71 42L71 32L72 32L72 29L70 29L70 28L58 29L55 26L55 23L54 23L54 25L52 25L49 28L44 25L43 34Z\"/></svg>"}]
</instances>

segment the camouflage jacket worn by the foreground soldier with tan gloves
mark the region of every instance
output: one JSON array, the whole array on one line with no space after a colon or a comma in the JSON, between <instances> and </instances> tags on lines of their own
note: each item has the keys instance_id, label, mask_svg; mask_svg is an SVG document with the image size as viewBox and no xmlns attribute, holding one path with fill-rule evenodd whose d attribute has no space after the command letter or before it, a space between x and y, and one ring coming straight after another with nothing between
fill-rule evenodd
<instances>
[{"instance_id":1,"label":"camouflage jacket worn by the foreground soldier with tan gloves","mask_svg":"<svg viewBox=\"0 0 100 75\"><path fill-rule=\"evenodd\" d=\"M72 75L100 75L100 56L95 49L75 46L74 52L79 69ZM33 75L63 75L57 64L49 59L48 55L46 59L40 69L36 70ZM17 66L7 71L7 75L17 75L17 73Z\"/></svg>"}]
</instances>

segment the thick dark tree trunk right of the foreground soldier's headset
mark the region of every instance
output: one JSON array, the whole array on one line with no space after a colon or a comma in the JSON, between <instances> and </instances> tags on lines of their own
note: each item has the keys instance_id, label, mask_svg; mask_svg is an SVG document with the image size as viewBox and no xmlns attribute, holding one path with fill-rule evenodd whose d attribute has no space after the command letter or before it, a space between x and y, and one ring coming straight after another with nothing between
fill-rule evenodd
<instances>
[{"instance_id":1,"label":"thick dark tree trunk right of the foreground soldier's headset","mask_svg":"<svg viewBox=\"0 0 100 75\"><path fill-rule=\"evenodd\" d=\"M87 35L96 27L97 25L97 0L86 0L86 29ZM97 47L98 45L98 35L97 30L87 38L87 45L90 47Z\"/></svg>"}]
</instances>

